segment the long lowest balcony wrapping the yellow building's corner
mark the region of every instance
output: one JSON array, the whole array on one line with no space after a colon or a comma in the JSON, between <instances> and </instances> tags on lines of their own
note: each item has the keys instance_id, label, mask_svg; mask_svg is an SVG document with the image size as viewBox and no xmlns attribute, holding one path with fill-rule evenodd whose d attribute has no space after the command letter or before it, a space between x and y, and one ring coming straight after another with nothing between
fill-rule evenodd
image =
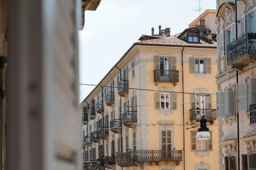
<instances>
[{"instance_id":1,"label":"long lowest balcony wrapping the yellow building's corner","mask_svg":"<svg viewBox=\"0 0 256 170\"><path fill-rule=\"evenodd\" d=\"M150 162L158 164L161 161L174 161L177 165L182 161L181 150L138 150L117 154L117 164L121 167L132 167L138 163Z\"/></svg>"}]
</instances>

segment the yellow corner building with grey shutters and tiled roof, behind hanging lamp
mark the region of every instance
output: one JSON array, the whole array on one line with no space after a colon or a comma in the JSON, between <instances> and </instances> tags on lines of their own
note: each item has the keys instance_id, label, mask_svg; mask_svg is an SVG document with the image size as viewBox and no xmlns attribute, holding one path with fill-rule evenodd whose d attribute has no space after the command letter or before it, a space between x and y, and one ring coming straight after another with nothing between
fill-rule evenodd
<instances>
[{"instance_id":1,"label":"yellow corner building with grey shutters and tiled roof, behind hanging lamp","mask_svg":"<svg viewBox=\"0 0 256 170\"><path fill-rule=\"evenodd\" d=\"M142 35L82 101L84 169L218 169L209 15L175 36L160 26ZM196 140L203 115L209 141Z\"/></svg>"}]
</instances>

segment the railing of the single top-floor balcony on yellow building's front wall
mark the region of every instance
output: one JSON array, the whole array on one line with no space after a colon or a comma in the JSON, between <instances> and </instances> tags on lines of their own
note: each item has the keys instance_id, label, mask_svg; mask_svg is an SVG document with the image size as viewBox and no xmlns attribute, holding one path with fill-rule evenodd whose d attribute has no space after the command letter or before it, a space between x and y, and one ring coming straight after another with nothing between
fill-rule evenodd
<instances>
[{"instance_id":1,"label":"railing of the single top-floor balcony on yellow building's front wall","mask_svg":"<svg viewBox=\"0 0 256 170\"><path fill-rule=\"evenodd\" d=\"M177 70L155 70L154 71L155 82L179 82L179 71Z\"/></svg>"}]
</instances>

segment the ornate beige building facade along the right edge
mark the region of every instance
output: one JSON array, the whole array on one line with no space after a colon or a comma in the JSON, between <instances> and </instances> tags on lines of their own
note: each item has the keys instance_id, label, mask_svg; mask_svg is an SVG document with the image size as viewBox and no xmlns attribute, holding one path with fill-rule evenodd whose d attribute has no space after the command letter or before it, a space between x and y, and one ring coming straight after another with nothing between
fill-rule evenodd
<instances>
[{"instance_id":1,"label":"ornate beige building facade along the right edge","mask_svg":"<svg viewBox=\"0 0 256 170\"><path fill-rule=\"evenodd\" d=\"M256 169L256 1L216 1L220 169Z\"/></svg>"}]
</instances>

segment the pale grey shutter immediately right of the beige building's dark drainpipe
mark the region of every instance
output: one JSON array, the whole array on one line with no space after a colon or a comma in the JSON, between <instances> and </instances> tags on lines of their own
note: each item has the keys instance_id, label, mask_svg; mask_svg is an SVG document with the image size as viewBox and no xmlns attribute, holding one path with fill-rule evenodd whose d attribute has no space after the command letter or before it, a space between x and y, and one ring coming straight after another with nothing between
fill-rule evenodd
<instances>
[{"instance_id":1,"label":"pale grey shutter immediately right of the beige building's dark drainpipe","mask_svg":"<svg viewBox=\"0 0 256 170\"><path fill-rule=\"evenodd\" d=\"M247 86L246 83L237 84L238 112L247 111Z\"/></svg>"}]
</instances>

